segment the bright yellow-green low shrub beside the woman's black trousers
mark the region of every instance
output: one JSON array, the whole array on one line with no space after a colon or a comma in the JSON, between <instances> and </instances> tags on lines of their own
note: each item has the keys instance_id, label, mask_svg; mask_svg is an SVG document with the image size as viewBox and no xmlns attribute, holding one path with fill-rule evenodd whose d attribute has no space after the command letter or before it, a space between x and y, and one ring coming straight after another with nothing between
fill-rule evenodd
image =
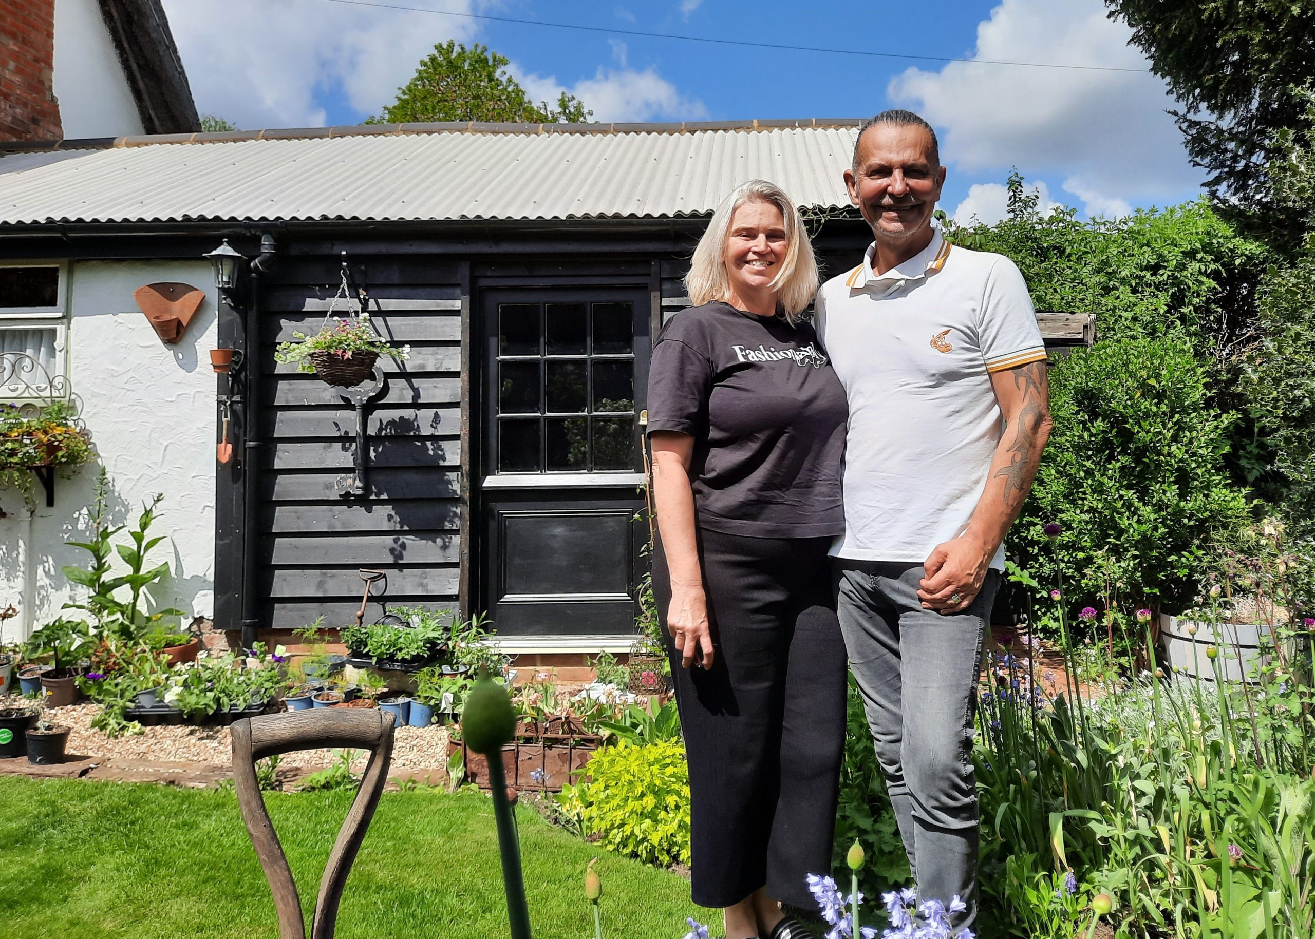
<instances>
[{"instance_id":1,"label":"bright yellow-green low shrub beside the woman's black trousers","mask_svg":"<svg viewBox=\"0 0 1315 939\"><path fill-rule=\"evenodd\" d=\"M689 772L680 740L604 747L589 760L589 777L559 798L583 834L650 864L689 863Z\"/></svg>"}]
</instances>

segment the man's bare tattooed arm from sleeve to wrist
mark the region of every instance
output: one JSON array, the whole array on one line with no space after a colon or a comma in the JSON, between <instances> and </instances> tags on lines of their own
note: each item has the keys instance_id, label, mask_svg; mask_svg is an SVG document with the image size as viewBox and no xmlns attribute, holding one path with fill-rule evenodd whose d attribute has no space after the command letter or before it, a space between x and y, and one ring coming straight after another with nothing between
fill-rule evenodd
<instances>
[{"instance_id":1,"label":"man's bare tattooed arm from sleeve to wrist","mask_svg":"<svg viewBox=\"0 0 1315 939\"><path fill-rule=\"evenodd\" d=\"M995 446L986 488L965 533L981 542L989 555L1005 541L1009 526L1023 510L1041 451L1051 437L1044 360L1010 368L993 380L1005 410L1005 431Z\"/></svg>"}]
</instances>

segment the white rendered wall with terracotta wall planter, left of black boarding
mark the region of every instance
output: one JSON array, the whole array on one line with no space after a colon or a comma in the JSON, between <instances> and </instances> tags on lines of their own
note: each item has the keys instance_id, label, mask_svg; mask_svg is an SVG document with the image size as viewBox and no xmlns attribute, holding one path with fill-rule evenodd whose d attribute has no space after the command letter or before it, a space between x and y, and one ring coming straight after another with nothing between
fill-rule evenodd
<instances>
[{"instance_id":1,"label":"white rendered wall with terracotta wall planter, left of black boarding","mask_svg":"<svg viewBox=\"0 0 1315 939\"><path fill-rule=\"evenodd\" d=\"M74 262L68 266L68 379L100 456L72 479L55 479L55 505L34 483L28 521L22 498L0 489L0 608L22 605L20 618L0 625L4 640L24 638L60 614L85 589L64 577L66 564L91 555L68 547L87 541L99 466L108 471L109 516L134 526L142 502L164 493L151 535L167 535L147 562L168 562L171 577L153 608L189 617L214 612L214 393L209 350L216 346L216 295L210 267L197 262ZM137 308L133 291L155 281L183 281L206 299L176 346L160 342ZM28 550L20 542L26 539ZM117 537L128 539L128 531ZM25 580L18 559L26 554ZM122 560L114 556L116 572ZM76 612L75 612L76 613Z\"/></svg>"}]
</instances>

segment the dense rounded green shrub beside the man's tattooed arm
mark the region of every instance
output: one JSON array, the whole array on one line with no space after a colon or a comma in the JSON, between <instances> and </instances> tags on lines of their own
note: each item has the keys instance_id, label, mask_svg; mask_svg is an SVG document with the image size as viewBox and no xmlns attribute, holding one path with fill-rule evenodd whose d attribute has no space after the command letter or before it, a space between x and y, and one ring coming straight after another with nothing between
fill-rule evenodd
<instances>
[{"instance_id":1,"label":"dense rounded green shrub beside the man's tattooed arm","mask_svg":"<svg viewBox=\"0 0 1315 939\"><path fill-rule=\"evenodd\" d=\"M1041 526L1059 522L1070 604L1112 593L1176 612L1194 596L1211 544L1247 518L1223 466L1233 416L1210 406L1205 366L1173 338L1098 343L1052 370L1051 412L1051 443L1011 530L1014 555L1053 583Z\"/></svg>"}]
</instances>

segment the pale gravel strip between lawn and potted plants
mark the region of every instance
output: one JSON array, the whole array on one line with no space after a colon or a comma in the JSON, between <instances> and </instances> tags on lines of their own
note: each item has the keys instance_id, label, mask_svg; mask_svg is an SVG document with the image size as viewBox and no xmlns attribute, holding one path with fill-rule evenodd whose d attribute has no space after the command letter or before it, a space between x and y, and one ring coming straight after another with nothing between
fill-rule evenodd
<instances>
[{"instance_id":1,"label":"pale gravel strip between lawn and potted plants","mask_svg":"<svg viewBox=\"0 0 1315 939\"><path fill-rule=\"evenodd\" d=\"M92 730L91 719L100 705L79 704L50 709L50 719L68 726L68 752L114 760L151 760L229 765L233 743L227 727L145 727L135 736L122 735L109 739ZM358 751L352 768L366 765L367 752ZM285 754L284 767L326 767L334 763L331 750L304 750ZM398 727L393 739L394 768L444 769L447 767L447 727Z\"/></svg>"}]
</instances>

